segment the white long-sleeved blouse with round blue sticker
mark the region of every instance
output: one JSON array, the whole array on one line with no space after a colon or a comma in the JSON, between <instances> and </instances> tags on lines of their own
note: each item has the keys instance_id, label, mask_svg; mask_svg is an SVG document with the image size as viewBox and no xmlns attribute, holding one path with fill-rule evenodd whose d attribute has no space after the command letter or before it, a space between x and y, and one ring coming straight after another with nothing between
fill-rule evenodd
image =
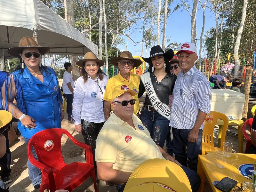
<instances>
[{"instance_id":1,"label":"white long-sleeved blouse with round blue sticker","mask_svg":"<svg viewBox=\"0 0 256 192\"><path fill-rule=\"evenodd\" d=\"M79 77L74 85L74 98L72 113L75 125L81 124L81 119L89 122L101 123L105 121L103 113L103 96L107 86L108 77L103 75L94 80L88 76L87 82Z\"/></svg>"}]
</instances>

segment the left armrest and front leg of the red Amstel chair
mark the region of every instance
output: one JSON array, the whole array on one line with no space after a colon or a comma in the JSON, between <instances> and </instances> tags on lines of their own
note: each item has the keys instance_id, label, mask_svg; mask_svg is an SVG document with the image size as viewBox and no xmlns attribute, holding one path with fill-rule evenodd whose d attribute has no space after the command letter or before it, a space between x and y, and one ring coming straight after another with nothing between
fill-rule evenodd
<instances>
[{"instance_id":1,"label":"left armrest and front leg of the red Amstel chair","mask_svg":"<svg viewBox=\"0 0 256 192\"><path fill-rule=\"evenodd\" d=\"M51 187L51 190L56 191L56 185L55 185L52 169L42 164L41 162L36 161L35 157L32 154L32 144L30 143L30 141L28 142L27 153L28 153L28 159L30 163L35 165L37 168L41 169L41 171L44 171L48 175L48 180L49 180L49 185Z\"/></svg>"}]
</instances>

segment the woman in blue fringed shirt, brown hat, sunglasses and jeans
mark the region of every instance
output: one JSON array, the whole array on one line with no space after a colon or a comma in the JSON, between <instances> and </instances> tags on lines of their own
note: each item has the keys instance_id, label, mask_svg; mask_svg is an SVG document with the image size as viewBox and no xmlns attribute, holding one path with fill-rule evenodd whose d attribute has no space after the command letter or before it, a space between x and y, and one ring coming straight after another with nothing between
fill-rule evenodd
<instances>
[{"instance_id":1,"label":"woman in blue fringed shirt, brown hat, sunglasses and jeans","mask_svg":"<svg viewBox=\"0 0 256 192\"><path fill-rule=\"evenodd\" d=\"M7 52L20 59L4 82L1 90L0 108L12 113L19 119L18 128L26 145L29 139L39 131L61 128L64 118L63 101L60 86L54 70L41 66L41 56L50 47L41 47L33 37L23 37L19 47L12 47ZM17 100L17 106L13 100ZM36 160L35 149L32 148ZM28 161L29 179L35 189L42 182L41 170Z\"/></svg>"}]
</instances>

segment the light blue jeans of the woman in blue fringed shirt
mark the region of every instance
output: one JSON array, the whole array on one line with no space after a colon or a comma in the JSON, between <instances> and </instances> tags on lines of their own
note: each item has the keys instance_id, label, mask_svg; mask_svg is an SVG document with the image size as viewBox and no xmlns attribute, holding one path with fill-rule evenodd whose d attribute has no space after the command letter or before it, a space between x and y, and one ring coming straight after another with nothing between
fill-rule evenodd
<instances>
[{"instance_id":1,"label":"light blue jeans of the woman in blue fringed shirt","mask_svg":"<svg viewBox=\"0 0 256 192\"><path fill-rule=\"evenodd\" d=\"M29 139L23 137L25 144L28 146ZM38 161L35 148L32 147L32 154L35 157L36 161ZM32 180L32 185L41 185L42 183L42 172L41 169L37 168L35 165L32 165L28 160L28 175L29 179Z\"/></svg>"}]
</instances>

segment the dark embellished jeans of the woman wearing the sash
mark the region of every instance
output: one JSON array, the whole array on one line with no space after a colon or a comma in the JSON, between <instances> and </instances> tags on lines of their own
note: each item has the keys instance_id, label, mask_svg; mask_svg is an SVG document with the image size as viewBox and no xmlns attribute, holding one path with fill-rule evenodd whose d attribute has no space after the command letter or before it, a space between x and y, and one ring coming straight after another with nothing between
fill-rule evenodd
<instances>
[{"instance_id":1,"label":"dark embellished jeans of the woman wearing the sash","mask_svg":"<svg viewBox=\"0 0 256 192\"><path fill-rule=\"evenodd\" d=\"M148 111L144 106L141 109L140 120L148 129L155 143L163 148L168 135L170 121L157 111Z\"/></svg>"}]
</instances>

